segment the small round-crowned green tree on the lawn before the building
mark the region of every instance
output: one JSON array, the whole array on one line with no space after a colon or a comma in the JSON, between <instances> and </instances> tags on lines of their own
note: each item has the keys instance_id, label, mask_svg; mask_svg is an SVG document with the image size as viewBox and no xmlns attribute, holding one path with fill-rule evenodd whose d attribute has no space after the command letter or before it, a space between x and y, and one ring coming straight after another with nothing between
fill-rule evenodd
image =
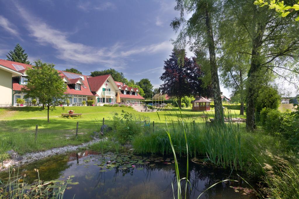
<instances>
[{"instance_id":1,"label":"small round-crowned green tree on the lawn before the building","mask_svg":"<svg viewBox=\"0 0 299 199\"><path fill-rule=\"evenodd\" d=\"M38 98L39 104L47 107L48 122L49 110L54 110L55 106L65 104L68 97L65 83L61 79L59 72L54 69L54 64L42 63L41 60L34 61L35 66L26 70L28 82L22 88L22 92L27 93L26 98Z\"/></svg>"}]
</instances>

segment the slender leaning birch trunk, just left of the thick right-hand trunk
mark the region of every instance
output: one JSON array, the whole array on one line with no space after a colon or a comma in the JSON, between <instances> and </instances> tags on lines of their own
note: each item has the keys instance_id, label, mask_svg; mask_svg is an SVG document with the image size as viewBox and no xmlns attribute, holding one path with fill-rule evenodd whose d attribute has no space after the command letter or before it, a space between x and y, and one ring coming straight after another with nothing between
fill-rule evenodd
<instances>
[{"instance_id":1,"label":"slender leaning birch trunk, just left of the thick right-hand trunk","mask_svg":"<svg viewBox=\"0 0 299 199\"><path fill-rule=\"evenodd\" d=\"M223 114L221 94L220 94L218 69L216 65L216 53L215 53L213 29L211 24L210 13L208 9L209 9L208 4L206 4L205 24L207 29L207 40L208 40L208 48L209 48L209 55L210 55L210 70L211 70L212 89L213 89L213 97L214 97L215 121L224 124L224 114Z\"/></svg>"}]
</instances>

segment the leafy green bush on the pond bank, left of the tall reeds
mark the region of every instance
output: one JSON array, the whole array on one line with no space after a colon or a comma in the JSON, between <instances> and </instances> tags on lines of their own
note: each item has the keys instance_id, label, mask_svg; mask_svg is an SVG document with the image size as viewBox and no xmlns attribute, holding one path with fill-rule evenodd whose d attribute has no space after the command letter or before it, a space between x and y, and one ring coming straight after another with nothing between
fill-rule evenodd
<instances>
[{"instance_id":1,"label":"leafy green bush on the pond bank, left of the tall reeds","mask_svg":"<svg viewBox=\"0 0 299 199\"><path fill-rule=\"evenodd\" d=\"M112 127L116 141L126 144L133 136L141 132L141 118L133 117L132 113L122 110L120 116L115 113L112 120Z\"/></svg>"}]
</instances>

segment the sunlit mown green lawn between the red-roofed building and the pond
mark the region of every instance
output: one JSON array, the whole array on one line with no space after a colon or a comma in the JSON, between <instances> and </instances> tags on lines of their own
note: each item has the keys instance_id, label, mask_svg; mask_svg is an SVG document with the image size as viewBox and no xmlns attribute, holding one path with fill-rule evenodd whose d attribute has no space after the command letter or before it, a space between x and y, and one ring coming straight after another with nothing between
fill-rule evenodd
<instances>
[{"instance_id":1,"label":"sunlit mown green lawn between the red-roofed building and the pond","mask_svg":"<svg viewBox=\"0 0 299 199\"><path fill-rule=\"evenodd\" d=\"M61 113L67 113L69 109L75 113L82 113L82 118L62 118ZM132 113L135 117L149 117L155 121L155 128L165 126L165 117L176 118L178 108L159 112L161 120L156 112L136 112L129 107L57 107L50 111L50 123L47 122L47 111L39 107L9 107L0 108L0 138L9 143L8 149L14 149L20 154L32 151L47 150L68 144L78 145L91 140L94 131L94 122L109 124L115 113L121 114L122 110ZM233 115L240 117L238 110L231 110ZM191 115L197 122L202 122L201 116L213 117L214 112L193 112L190 108L182 109L182 115ZM245 116L242 116L243 118ZM76 123L79 122L79 136L75 138ZM37 141L34 143L35 128L38 125Z\"/></svg>"}]
</instances>

